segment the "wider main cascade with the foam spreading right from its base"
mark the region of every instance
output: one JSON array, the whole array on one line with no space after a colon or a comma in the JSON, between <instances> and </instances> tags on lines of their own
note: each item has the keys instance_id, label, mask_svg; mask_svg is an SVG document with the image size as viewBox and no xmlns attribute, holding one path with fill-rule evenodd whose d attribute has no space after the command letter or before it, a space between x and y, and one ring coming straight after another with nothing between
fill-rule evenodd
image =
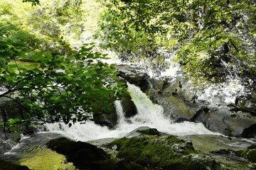
<instances>
[{"instance_id":1,"label":"wider main cascade with the foam spreading right from its base","mask_svg":"<svg viewBox=\"0 0 256 170\"><path fill-rule=\"evenodd\" d=\"M129 118L133 125L138 125L138 127L142 125L149 126L149 128L156 128L170 135L213 134L201 123L172 123L172 120L164 116L164 109L152 103L139 87L129 83L127 85L132 101L134 101L138 110L137 115Z\"/></svg>"}]
</instances>

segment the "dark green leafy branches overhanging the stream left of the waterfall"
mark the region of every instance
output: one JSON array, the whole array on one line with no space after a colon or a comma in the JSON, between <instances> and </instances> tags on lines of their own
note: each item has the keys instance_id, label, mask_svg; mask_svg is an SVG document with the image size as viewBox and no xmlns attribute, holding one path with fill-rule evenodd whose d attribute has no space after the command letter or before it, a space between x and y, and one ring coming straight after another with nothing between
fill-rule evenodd
<instances>
[{"instance_id":1,"label":"dark green leafy branches overhanging the stream left of the waterfall","mask_svg":"<svg viewBox=\"0 0 256 170\"><path fill-rule=\"evenodd\" d=\"M68 56L37 52L31 60L39 67L17 63L26 59L25 45L0 41L0 84L6 89L0 98L9 98L24 110L23 119L6 119L6 125L26 119L45 123L82 122L89 118L89 113L110 108L124 91L124 84L116 82L113 65L100 61L106 55L95 51L95 45L84 45ZM1 107L2 115L8 118L4 111Z\"/></svg>"}]
</instances>

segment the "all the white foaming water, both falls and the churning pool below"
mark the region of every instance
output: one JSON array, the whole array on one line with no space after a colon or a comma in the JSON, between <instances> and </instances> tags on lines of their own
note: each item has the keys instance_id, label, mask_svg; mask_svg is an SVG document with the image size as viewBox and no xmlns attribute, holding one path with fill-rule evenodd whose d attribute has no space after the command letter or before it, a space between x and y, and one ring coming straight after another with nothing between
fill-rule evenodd
<instances>
[{"instance_id":1,"label":"all the white foaming water, both falls and the churning pool below","mask_svg":"<svg viewBox=\"0 0 256 170\"><path fill-rule=\"evenodd\" d=\"M216 134L207 130L201 123L172 123L169 118L164 117L163 108L152 103L137 86L128 84L128 87L138 113L128 120L124 118L124 115L119 115L118 125L114 130L96 125L92 121L87 121L85 124L76 123L70 128L64 123L48 124L48 130L80 141L124 137L127 133L141 126L156 128L160 132L166 132L170 135ZM123 114L122 109L119 108L119 102L116 102L116 106L117 113Z\"/></svg>"}]
</instances>

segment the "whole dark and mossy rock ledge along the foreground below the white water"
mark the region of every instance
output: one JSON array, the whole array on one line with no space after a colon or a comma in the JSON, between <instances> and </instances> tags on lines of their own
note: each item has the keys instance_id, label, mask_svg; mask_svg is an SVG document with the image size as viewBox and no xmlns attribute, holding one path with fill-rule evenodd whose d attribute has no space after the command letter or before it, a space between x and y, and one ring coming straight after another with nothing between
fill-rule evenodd
<instances>
[{"instance_id":1,"label":"whole dark and mossy rock ledge along the foreground below the white water","mask_svg":"<svg viewBox=\"0 0 256 170\"><path fill-rule=\"evenodd\" d=\"M216 135L176 137L156 129L139 128L129 137L74 142L66 138L50 140L46 145L76 168L135 169L255 169L256 147L253 142ZM105 141L105 142L104 142Z\"/></svg>"}]
</instances>

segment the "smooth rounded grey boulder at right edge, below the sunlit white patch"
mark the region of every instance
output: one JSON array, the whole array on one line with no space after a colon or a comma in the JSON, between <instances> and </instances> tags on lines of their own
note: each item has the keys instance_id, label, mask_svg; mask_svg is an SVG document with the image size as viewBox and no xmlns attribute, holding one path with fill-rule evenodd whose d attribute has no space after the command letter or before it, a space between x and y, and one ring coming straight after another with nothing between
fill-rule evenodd
<instances>
[{"instance_id":1,"label":"smooth rounded grey boulder at right edge, below the sunlit white patch","mask_svg":"<svg viewBox=\"0 0 256 170\"><path fill-rule=\"evenodd\" d=\"M232 112L228 108L203 107L192 120L196 123L203 123L213 132L233 137L252 135L248 128L256 123L256 117L250 113ZM255 133L255 130L252 132Z\"/></svg>"}]
</instances>

